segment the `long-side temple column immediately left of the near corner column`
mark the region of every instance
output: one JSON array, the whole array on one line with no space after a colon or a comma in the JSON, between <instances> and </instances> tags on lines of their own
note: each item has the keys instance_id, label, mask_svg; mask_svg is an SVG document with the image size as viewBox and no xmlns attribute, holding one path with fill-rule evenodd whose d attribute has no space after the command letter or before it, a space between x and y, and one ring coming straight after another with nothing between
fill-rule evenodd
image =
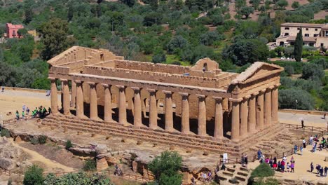
<instances>
[{"instance_id":1,"label":"long-side temple column immediately left of the near corner column","mask_svg":"<svg viewBox=\"0 0 328 185\"><path fill-rule=\"evenodd\" d=\"M214 138L222 138L224 136L222 97L213 98L215 100Z\"/></svg>"}]
</instances>

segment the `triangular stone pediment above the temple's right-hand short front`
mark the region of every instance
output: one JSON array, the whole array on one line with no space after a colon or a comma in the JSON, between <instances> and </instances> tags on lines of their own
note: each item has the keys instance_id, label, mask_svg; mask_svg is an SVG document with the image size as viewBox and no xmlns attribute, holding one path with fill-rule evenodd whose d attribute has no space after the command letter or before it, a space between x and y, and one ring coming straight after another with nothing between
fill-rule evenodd
<instances>
[{"instance_id":1,"label":"triangular stone pediment above the temple's right-hand short front","mask_svg":"<svg viewBox=\"0 0 328 185\"><path fill-rule=\"evenodd\" d=\"M268 64L266 62L254 62L254 64L252 64L235 79L233 79L231 83L247 83L258 78L263 78L265 76L281 72L283 69L284 68L275 64Z\"/></svg>"}]
</instances>

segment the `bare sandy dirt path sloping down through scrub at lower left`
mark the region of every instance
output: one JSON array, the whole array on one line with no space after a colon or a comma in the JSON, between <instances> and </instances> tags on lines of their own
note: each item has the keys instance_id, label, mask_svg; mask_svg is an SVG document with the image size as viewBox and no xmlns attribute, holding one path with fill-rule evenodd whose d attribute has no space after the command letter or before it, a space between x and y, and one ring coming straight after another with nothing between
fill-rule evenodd
<instances>
[{"instance_id":1,"label":"bare sandy dirt path sloping down through scrub at lower left","mask_svg":"<svg viewBox=\"0 0 328 185\"><path fill-rule=\"evenodd\" d=\"M11 143L13 144L13 146L18 147L20 149L22 149L22 151L24 151L25 153L28 153L32 159L30 159L30 161L32 163L34 162L41 162L43 163L43 165L46 165L46 171L48 171L49 169L62 169L63 172L73 172L76 171L76 169L72 168L72 167L67 167L65 165L62 165L60 163L57 163L53 160L50 160L48 158L45 158L43 156L41 156L39 153L37 153L36 151L32 151L30 149L26 149L22 146L19 146L18 144L16 144L15 142L13 142L13 139L10 139Z\"/></svg>"}]
</instances>

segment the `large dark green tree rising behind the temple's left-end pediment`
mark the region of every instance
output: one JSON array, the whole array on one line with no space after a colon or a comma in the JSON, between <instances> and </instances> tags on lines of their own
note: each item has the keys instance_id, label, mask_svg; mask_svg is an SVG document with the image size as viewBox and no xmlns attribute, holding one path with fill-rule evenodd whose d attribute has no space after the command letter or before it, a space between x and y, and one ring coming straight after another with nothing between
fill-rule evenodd
<instances>
[{"instance_id":1,"label":"large dark green tree rising behind the temple's left-end pediment","mask_svg":"<svg viewBox=\"0 0 328 185\"><path fill-rule=\"evenodd\" d=\"M38 30L41 34L43 50L41 56L43 60L49 60L67 48L67 22L59 18L52 18L44 23Z\"/></svg>"}]
</instances>

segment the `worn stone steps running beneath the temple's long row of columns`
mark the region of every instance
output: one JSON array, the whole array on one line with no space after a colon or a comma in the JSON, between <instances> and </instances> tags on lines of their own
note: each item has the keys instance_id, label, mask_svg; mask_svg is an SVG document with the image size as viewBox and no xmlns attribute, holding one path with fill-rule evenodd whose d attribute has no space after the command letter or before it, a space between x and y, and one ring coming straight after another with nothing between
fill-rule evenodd
<instances>
[{"instance_id":1,"label":"worn stone steps running beneath the temple's long row of columns","mask_svg":"<svg viewBox=\"0 0 328 185\"><path fill-rule=\"evenodd\" d=\"M220 144L218 142L208 141L207 139L199 139L193 137L183 137L180 135L172 135L165 132L149 132L150 130L134 129L123 127L122 125L113 126L107 123L94 123L92 121L76 121L71 118L45 118L43 125L62 127L71 130L79 130L83 132L99 132L101 135L116 135L119 137L127 137L133 139L140 139L145 141L156 142L167 145L182 146L186 149L198 149L203 151L222 152L230 151L230 153L239 153L235 146L228 144ZM117 124L117 123L116 123ZM137 135L132 132L138 132Z\"/></svg>"}]
</instances>

